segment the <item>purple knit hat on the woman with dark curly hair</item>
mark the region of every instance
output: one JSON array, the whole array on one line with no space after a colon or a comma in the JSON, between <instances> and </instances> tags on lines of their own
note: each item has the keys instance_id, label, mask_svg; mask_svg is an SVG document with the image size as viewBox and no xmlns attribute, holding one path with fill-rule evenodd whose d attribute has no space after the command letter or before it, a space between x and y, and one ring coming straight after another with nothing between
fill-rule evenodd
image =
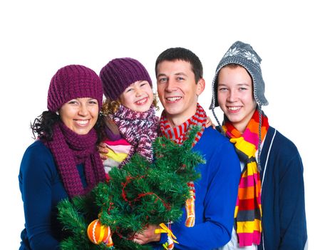
<instances>
[{"instance_id":1,"label":"purple knit hat on the woman with dark curly hair","mask_svg":"<svg viewBox=\"0 0 320 250\"><path fill-rule=\"evenodd\" d=\"M97 99L99 107L102 105L103 89L98 74L82 65L64 66L51 79L48 110L56 112L67 101L84 97Z\"/></svg>"}]
</instances>

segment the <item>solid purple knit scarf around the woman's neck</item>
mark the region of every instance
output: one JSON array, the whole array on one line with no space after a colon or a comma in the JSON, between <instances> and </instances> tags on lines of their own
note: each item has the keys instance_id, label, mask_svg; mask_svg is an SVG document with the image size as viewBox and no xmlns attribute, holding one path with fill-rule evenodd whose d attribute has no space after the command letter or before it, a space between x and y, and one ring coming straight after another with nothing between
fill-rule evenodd
<instances>
[{"instance_id":1,"label":"solid purple knit scarf around the woman's neck","mask_svg":"<svg viewBox=\"0 0 320 250\"><path fill-rule=\"evenodd\" d=\"M46 142L63 181L68 196L86 194L93 186L105 180L103 164L96 150L97 134L91 129L88 134L80 135L68 129L62 122L53 126L53 140ZM84 164L86 189L83 188L77 169Z\"/></svg>"}]
</instances>

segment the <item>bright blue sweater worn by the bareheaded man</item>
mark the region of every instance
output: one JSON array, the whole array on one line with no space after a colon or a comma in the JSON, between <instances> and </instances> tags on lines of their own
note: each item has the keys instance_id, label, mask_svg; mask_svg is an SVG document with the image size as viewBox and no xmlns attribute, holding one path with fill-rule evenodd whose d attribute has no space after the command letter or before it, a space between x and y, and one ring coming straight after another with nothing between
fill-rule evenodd
<instances>
[{"instance_id":1,"label":"bright blue sweater worn by the bareheaded man","mask_svg":"<svg viewBox=\"0 0 320 250\"><path fill-rule=\"evenodd\" d=\"M185 226L185 209L179 223L172 224L172 233L179 244L175 249L213 249L229 241L234 206L240 178L240 164L229 140L215 129L205 129L194 151L207 161L198 169L201 179L195 182L195 226ZM160 243L167 241L162 234Z\"/></svg>"}]
</instances>

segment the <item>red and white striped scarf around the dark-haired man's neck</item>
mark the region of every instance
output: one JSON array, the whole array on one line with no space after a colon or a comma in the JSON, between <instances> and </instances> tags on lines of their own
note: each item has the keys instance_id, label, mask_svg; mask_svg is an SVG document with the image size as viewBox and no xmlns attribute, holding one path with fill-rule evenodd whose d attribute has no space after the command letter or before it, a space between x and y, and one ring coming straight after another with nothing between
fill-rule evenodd
<instances>
[{"instance_id":1,"label":"red and white striped scarf around the dark-haired man's neck","mask_svg":"<svg viewBox=\"0 0 320 250\"><path fill-rule=\"evenodd\" d=\"M187 132L192 128L192 126L201 126L202 129L197 133L195 141L192 144L192 146L195 146L205 130L206 121L207 114L205 114L205 110L202 109L200 104L197 104L197 111L195 112L195 115L180 126L175 126L174 128L171 128L170 122L165 117L165 111L162 111L160 118L160 130L162 135L166 138L175 141L177 144L183 144L183 142L188 138L189 133ZM195 225L195 184L190 181L187 185L190 188L190 198L185 202L185 209L187 212L185 226L192 227Z\"/></svg>"}]
</instances>

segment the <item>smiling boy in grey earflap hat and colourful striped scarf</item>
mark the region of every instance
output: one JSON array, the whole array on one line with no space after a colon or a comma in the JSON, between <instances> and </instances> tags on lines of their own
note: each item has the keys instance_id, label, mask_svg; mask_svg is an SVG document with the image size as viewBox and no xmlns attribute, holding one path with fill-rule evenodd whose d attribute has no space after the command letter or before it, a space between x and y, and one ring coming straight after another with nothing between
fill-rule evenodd
<instances>
[{"instance_id":1,"label":"smiling boy in grey earflap hat and colourful striped scarf","mask_svg":"<svg viewBox=\"0 0 320 250\"><path fill-rule=\"evenodd\" d=\"M307 240L303 165L296 146L269 126L261 109L268 101L260 62L252 46L237 41L212 83L210 109L216 119L216 106L224 112L222 132L242 163L234 231L221 249L302 250Z\"/></svg>"}]
</instances>

